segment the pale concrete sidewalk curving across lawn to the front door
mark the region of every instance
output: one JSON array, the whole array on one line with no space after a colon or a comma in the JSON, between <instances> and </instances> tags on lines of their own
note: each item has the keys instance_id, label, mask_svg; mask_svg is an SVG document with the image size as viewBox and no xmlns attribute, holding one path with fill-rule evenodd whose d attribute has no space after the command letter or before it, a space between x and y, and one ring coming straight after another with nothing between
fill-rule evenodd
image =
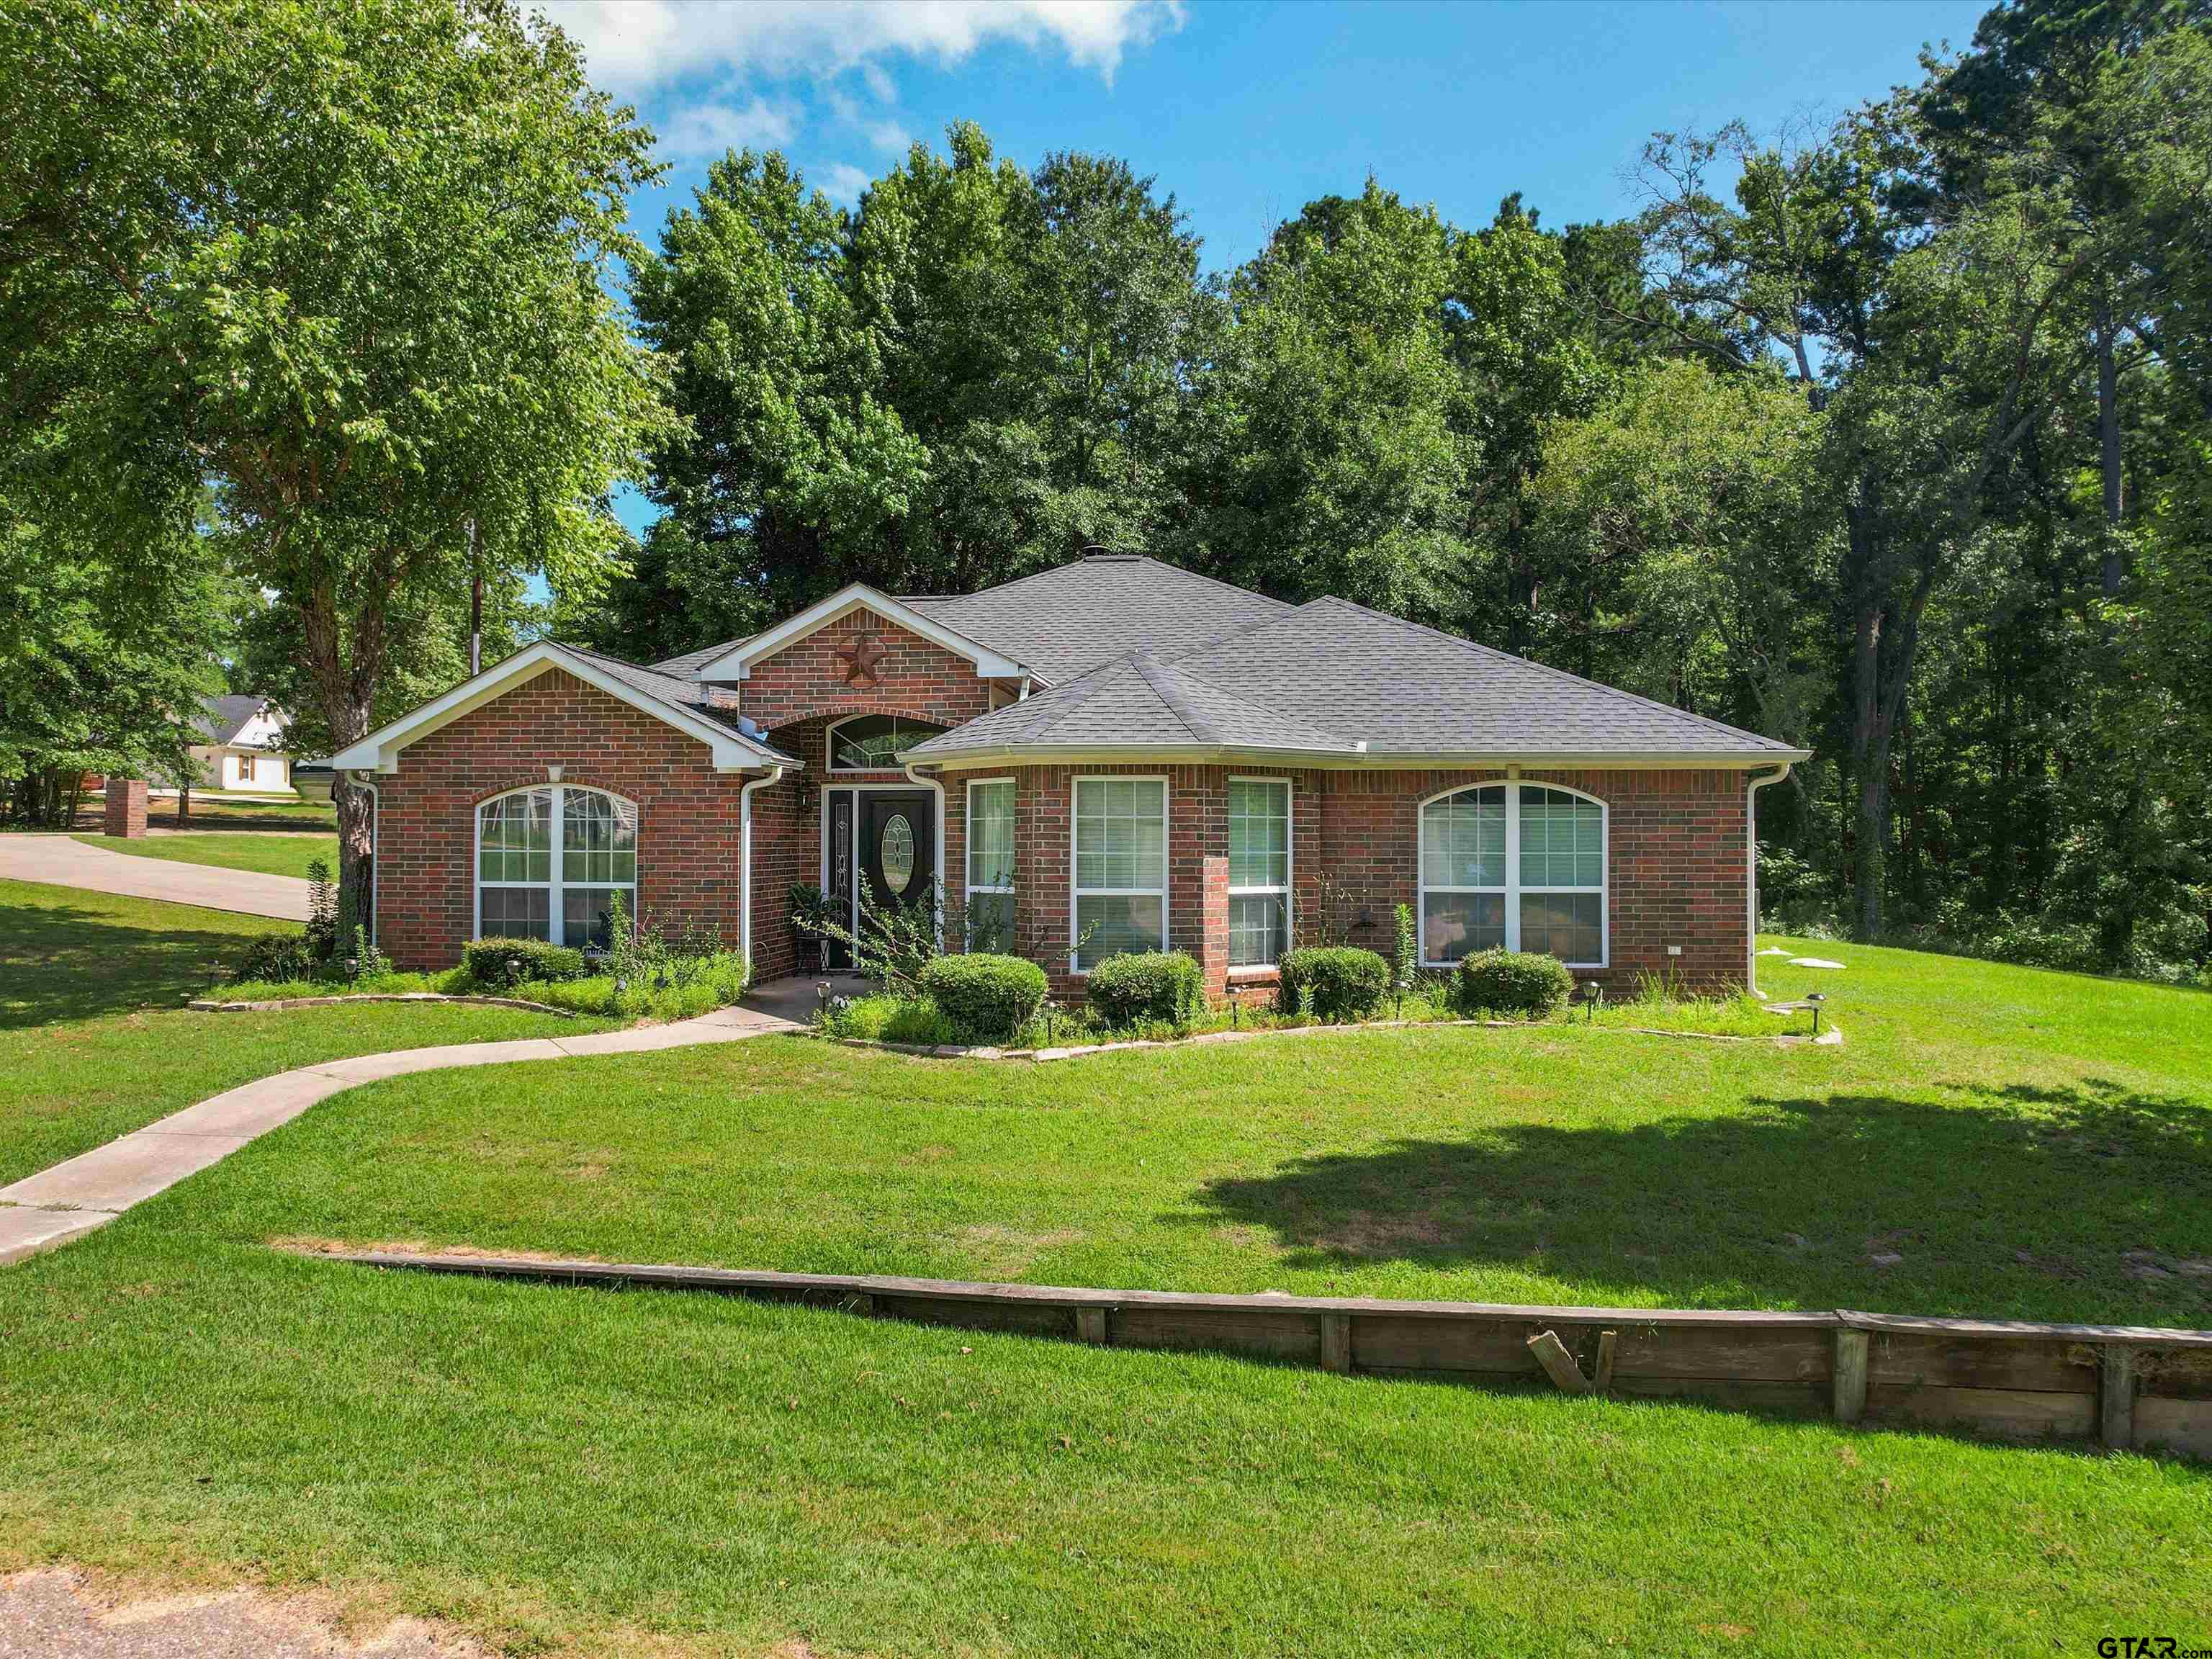
<instances>
[{"instance_id":1,"label":"pale concrete sidewalk curving across lawn to the front door","mask_svg":"<svg viewBox=\"0 0 2212 1659\"><path fill-rule=\"evenodd\" d=\"M571 1060L690 1048L701 1042L739 1042L772 1031L803 1031L792 1020L734 1006L635 1031L593 1031L577 1037L518 1037L513 1042L451 1042L438 1048L394 1048L380 1055L327 1060L279 1071L210 1095L106 1146L0 1186L0 1265L22 1261L102 1228L133 1203L219 1164L246 1141L290 1124L319 1099L385 1077L451 1066L500 1066L515 1060Z\"/></svg>"}]
</instances>

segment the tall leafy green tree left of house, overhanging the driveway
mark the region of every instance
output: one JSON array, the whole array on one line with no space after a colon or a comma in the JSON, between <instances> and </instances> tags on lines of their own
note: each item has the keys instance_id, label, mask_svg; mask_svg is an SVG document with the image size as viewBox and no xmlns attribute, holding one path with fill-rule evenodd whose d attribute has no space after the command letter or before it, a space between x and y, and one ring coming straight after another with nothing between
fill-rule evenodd
<instances>
[{"instance_id":1,"label":"tall leafy green tree left of house, overhanging the driveway","mask_svg":"<svg viewBox=\"0 0 2212 1659\"><path fill-rule=\"evenodd\" d=\"M657 416L608 292L650 135L557 29L504 0L9 0L0 124L0 369L40 394L13 438L40 422L58 502L113 502L119 456L155 509L212 480L334 743L471 564L604 577ZM358 900L363 792L338 825Z\"/></svg>"}]
</instances>

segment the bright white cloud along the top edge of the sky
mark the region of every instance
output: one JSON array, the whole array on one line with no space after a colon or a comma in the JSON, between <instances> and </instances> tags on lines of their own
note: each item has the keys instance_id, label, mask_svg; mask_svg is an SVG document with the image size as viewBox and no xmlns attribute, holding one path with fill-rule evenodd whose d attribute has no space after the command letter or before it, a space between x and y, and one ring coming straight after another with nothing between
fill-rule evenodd
<instances>
[{"instance_id":1,"label":"bright white cloud along the top edge of the sky","mask_svg":"<svg viewBox=\"0 0 2212 1659\"><path fill-rule=\"evenodd\" d=\"M991 40L1057 46L1113 80L1121 53L1183 24L1181 0L546 0L591 77L639 93L690 75L834 75L883 86L880 58L958 62Z\"/></svg>"}]
</instances>

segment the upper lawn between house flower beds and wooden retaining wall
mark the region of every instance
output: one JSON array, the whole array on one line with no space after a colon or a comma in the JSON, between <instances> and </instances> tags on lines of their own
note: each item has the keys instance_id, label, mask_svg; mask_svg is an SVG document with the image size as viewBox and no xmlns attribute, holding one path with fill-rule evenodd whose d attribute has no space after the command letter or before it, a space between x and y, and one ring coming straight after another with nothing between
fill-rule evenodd
<instances>
[{"instance_id":1,"label":"upper lawn between house flower beds and wooden retaining wall","mask_svg":"<svg viewBox=\"0 0 2212 1659\"><path fill-rule=\"evenodd\" d=\"M409 1077L257 1148L201 1214L239 1241L2212 1325L2212 998L1836 949L1840 1051L1546 1026L1024 1066L776 1037Z\"/></svg>"}]
</instances>

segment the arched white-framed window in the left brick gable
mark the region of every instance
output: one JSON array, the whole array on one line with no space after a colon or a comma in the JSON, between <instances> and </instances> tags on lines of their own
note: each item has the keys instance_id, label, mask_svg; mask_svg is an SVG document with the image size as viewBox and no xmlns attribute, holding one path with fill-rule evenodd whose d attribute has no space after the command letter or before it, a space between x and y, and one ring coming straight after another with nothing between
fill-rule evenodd
<instances>
[{"instance_id":1,"label":"arched white-framed window in the left brick gable","mask_svg":"<svg viewBox=\"0 0 2212 1659\"><path fill-rule=\"evenodd\" d=\"M476 936L608 945L608 902L637 916L637 807L546 785L476 810Z\"/></svg>"}]
</instances>

